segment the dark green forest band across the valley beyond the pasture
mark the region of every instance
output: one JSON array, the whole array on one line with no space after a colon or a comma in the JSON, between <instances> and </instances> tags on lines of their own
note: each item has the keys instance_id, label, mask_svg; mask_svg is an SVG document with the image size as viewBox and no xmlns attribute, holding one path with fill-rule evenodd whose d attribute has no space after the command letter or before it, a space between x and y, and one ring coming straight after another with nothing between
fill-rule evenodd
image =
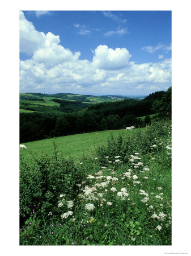
<instances>
[{"instance_id":1,"label":"dark green forest band across the valley beyond the pasture","mask_svg":"<svg viewBox=\"0 0 191 256\"><path fill-rule=\"evenodd\" d=\"M46 94L33 93L32 98L37 100L36 96L40 96L43 101ZM53 95L56 96L58 94ZM61 100L58 99L61 97L59 94L57 99L52 100L60 103L60 106L40 105L36 106L39 112L20 113L20 143L93 131L124 129L128 126L143 127L150 122L149 115L155 113L156 118L171 118L171 88L167 92L152 93L141 101L128 98L124 101L91 105L82 103L84 99L81 97L79 101L78 96L78 101L66 101L65 96L67 94L63 93ZM26 109L29 108L28 105L26 103ZM35 106L32 105L28 110L35 110ZM139 117L145 115L146 118L142 121Z\"/></svg>"}]
</instances>

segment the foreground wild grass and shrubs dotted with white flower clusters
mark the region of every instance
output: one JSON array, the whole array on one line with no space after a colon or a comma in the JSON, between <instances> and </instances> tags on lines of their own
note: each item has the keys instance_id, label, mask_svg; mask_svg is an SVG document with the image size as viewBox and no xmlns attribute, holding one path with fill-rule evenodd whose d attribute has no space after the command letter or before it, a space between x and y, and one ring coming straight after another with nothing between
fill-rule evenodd
<instances>
[{"instance_id":1,"label":"foreground wild grass and shrubs dotted with white flower clusters","mask_svg":"<svg viewBox=\"0 0 191 256\"><path fill-rule=\"evenodd\" d=\"M21 160L20 245L171 245L171 123L111 137L80 164L57 152Z\"/></svg>"}]
</instances>

